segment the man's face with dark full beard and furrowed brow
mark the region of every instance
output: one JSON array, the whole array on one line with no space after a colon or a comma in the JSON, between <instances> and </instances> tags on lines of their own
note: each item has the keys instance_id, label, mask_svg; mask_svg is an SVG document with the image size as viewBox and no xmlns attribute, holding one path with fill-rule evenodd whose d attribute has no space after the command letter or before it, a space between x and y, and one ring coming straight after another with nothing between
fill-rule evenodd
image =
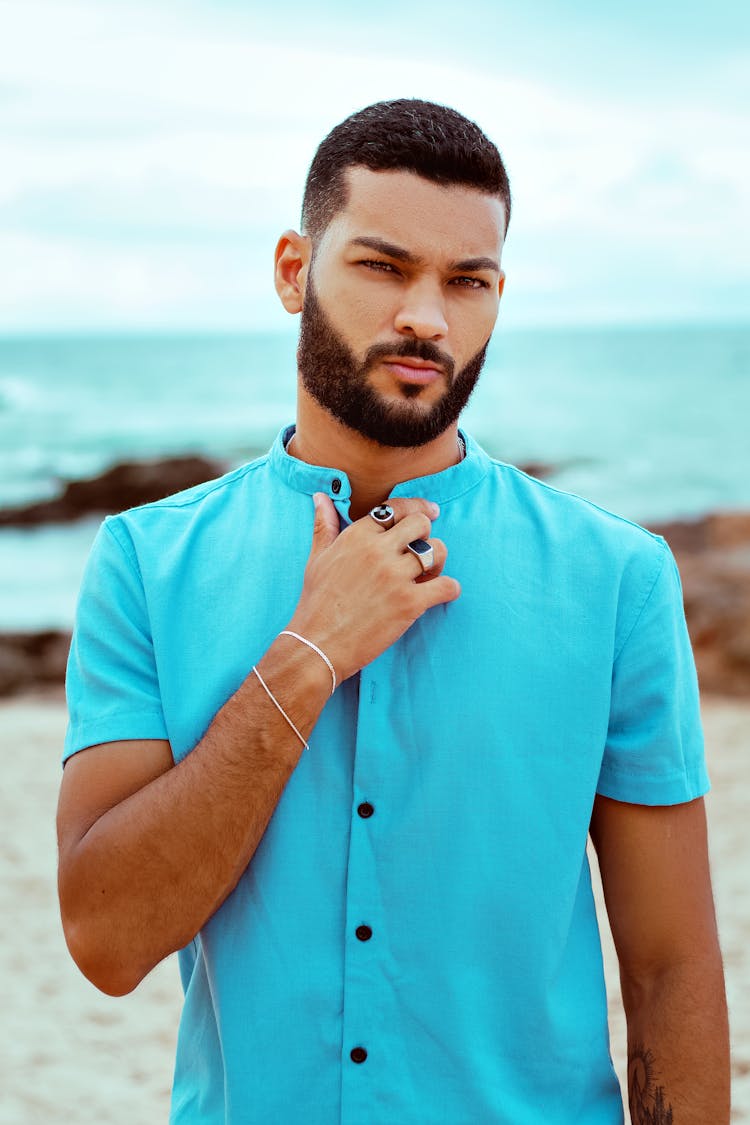
<instances>
[{"instance_id":1,"label":"man's face with dark full beard and furrowed brow","mask_svg":"<svg viewBox=\"0 0 750 1125\"><path fill-rule=\"evenodd\" d=\"M497 317L504 210L410 172L349 170L349 200L307 272L304 389L381 446L417 447L459 417Z\"/></svg>"}]
</instances>

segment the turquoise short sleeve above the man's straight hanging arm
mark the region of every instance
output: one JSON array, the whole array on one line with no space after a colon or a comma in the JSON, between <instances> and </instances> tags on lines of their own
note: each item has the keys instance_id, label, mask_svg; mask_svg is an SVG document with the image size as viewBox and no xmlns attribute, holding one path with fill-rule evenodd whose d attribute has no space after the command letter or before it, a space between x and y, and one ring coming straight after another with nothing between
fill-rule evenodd
<instances>
[{"instance_id":1,"label":"turquoise short sleeve above the man's straight hanging arm","mask_svg":"<svg viewBox=\"0 0 750 1125\"><path fill-rule=\"evenodd\" d=\"M667 543L615 657L597 792L635 804L679 804L707 792L698 682L683 588Z\"/></svg>"}]
</instances>

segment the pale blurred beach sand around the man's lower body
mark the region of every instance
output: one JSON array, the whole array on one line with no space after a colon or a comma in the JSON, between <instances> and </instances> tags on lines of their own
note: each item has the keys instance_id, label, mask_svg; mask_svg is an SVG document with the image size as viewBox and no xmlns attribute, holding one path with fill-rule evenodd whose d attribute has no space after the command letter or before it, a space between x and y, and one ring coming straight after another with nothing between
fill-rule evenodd
<instances>
[{"instance_id":1,"label":"pale blurred beach sand around the man's lower body","mask_svg":"<svg viewBox=\"0 0 750 1125\"><path fill-rule=\"evenodd\" d=\"M750 703L704 702L716 909L732 1019L733 1122L750 1122ZM180 987L170 957L128 997L97 992L62 935L54 814L65 727L60 695L0 704L0 1125L159 1125ZM606 930L606 927L605 927ZM616 961L604 933L613 1055L624 1070ZM708 1125L708 1123L706 1123Z\"/></svg>"}]
</instances>

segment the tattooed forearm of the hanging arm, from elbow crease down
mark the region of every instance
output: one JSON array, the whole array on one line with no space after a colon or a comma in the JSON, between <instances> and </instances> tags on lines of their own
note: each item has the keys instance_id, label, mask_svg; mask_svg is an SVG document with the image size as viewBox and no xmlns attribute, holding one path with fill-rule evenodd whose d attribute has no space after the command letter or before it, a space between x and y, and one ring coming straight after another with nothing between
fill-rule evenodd
<instances>
[{"instance_id":1,"label":"tattooed forearm of the hanging arm, from elbow crease down","mask_svg":"<svg viewBox=\"0 0 750 1125\"><path fill-rule=\"evenodd\" d=\"M623 978L633 1125L729 1125L729 1028L721 958Z\"/></svg>"}]
</instances>

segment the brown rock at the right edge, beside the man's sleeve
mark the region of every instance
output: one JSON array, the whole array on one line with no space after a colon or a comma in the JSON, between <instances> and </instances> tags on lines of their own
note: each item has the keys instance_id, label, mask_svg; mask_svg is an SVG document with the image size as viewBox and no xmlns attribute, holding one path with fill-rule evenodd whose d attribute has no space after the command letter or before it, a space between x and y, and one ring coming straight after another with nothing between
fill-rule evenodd
<instances>
[{"instance_id":1,"label":"brown rock at the right edge, beside the man's sleeve","mask_svg":"<svg viewBox=\"0 0 750 1125\"><path fill-rule=\"evenodd\" d=\"M704 692L750 698L750 513L652 526L671 547Z\"/></svg>"}]
</instances>

